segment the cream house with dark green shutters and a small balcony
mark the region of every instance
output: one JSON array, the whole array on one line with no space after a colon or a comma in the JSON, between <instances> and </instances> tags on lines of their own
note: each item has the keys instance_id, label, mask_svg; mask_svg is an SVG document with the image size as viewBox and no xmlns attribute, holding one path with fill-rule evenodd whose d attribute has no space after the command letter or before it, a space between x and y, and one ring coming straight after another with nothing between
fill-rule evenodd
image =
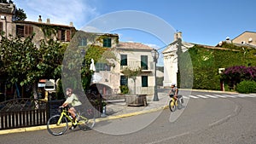
<instances>
[{"instance_id":1,"label":"cream house with dark green shutters and a small balcony","mask_svg":"<svg viewBox=\"0 0 256 144\"><path fill-rule=\"evenodd\" d=\"M112 49L116 60L109 60L111 66L101 63L95 64L96 72L93 75L92 83L96 84L101 95L104 97L119 94L121 85L128 86L131 94L153 95L154 60L151 55L152 48L142 43L119 42ZM127 68L131 71L141 69L141 72L130 78L124 73Z\"/></svg>"}]
</instances>

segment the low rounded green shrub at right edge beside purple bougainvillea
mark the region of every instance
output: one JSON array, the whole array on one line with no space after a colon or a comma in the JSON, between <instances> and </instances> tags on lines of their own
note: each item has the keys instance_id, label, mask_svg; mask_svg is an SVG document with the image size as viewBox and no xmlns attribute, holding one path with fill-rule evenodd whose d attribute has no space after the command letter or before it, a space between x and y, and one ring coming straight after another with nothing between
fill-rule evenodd
<instances>
[{"instance_id":1,"label":"low rounded green shrub at right edge beside purple bougainvillea","mask_svg":"<svg viewBox=\"0 0 256 144\"><path fill-rule=\"evenodd\" d=\"M250 80L244 80L240 84L237 84L236 91L239 93L256 93L256 82Z\"/></svg>"}]
</instances>

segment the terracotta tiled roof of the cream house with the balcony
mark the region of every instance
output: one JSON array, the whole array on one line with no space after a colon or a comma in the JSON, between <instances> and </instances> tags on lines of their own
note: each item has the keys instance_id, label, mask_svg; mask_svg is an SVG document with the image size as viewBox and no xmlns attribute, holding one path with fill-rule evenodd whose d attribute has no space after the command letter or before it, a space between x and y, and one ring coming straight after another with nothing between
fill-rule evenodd
<instances>
[{"instance_id":1,"label":"terracotta tiled roof of the cream house with the balcony","mask_svg":"<svg viewBox=\"0 0 256 144\"><path fill-rule=\"evenodd\" d=\"M129 43L129 42L119 42L117 45L117 49L148 49L151 50L153 48L149 47L143 43Z\"/></svg>"}]
</instances>

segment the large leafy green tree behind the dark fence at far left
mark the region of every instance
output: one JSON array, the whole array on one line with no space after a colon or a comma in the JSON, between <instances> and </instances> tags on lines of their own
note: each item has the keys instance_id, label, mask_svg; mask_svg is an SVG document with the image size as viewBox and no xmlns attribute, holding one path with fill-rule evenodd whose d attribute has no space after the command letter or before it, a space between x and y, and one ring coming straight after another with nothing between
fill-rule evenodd
<instances>
[{"instance_id":1,"label":"large leafy green tree behind the dark fence at far left","mask_svg":"<svg viewBox=\"0 0 256 144\"><path fill-rule=\"evenodd\" d=\"M33 97L38 99L38 81L41 78L61 78L61 60L67 45L50 39L41 41L37 48L32 37L3 37L0 42L2 55L0 68L7 80L20 86L32 85Z\"/></svg>"}]
</instances>

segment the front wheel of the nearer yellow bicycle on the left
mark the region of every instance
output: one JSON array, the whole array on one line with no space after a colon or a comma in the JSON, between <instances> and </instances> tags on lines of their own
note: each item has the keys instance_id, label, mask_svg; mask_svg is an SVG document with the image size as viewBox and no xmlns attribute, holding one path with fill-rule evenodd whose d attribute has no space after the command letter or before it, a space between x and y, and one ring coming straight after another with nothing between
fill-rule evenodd
<instances>
[{"instance_id":1,"label":"front wheel of the nearer yellow bicycle on the left","mask_svg":"<svg viewBox=\"0 0 256 144\"><path fill-rule=\"evenodd\" d=\"M61 124L57 124L58 120L61 118L61 115L55 115L49 118L47 122L47 130L51 135L63 135L68 127L67 118L61 118Z\"/></svg>"}]
</instances>

